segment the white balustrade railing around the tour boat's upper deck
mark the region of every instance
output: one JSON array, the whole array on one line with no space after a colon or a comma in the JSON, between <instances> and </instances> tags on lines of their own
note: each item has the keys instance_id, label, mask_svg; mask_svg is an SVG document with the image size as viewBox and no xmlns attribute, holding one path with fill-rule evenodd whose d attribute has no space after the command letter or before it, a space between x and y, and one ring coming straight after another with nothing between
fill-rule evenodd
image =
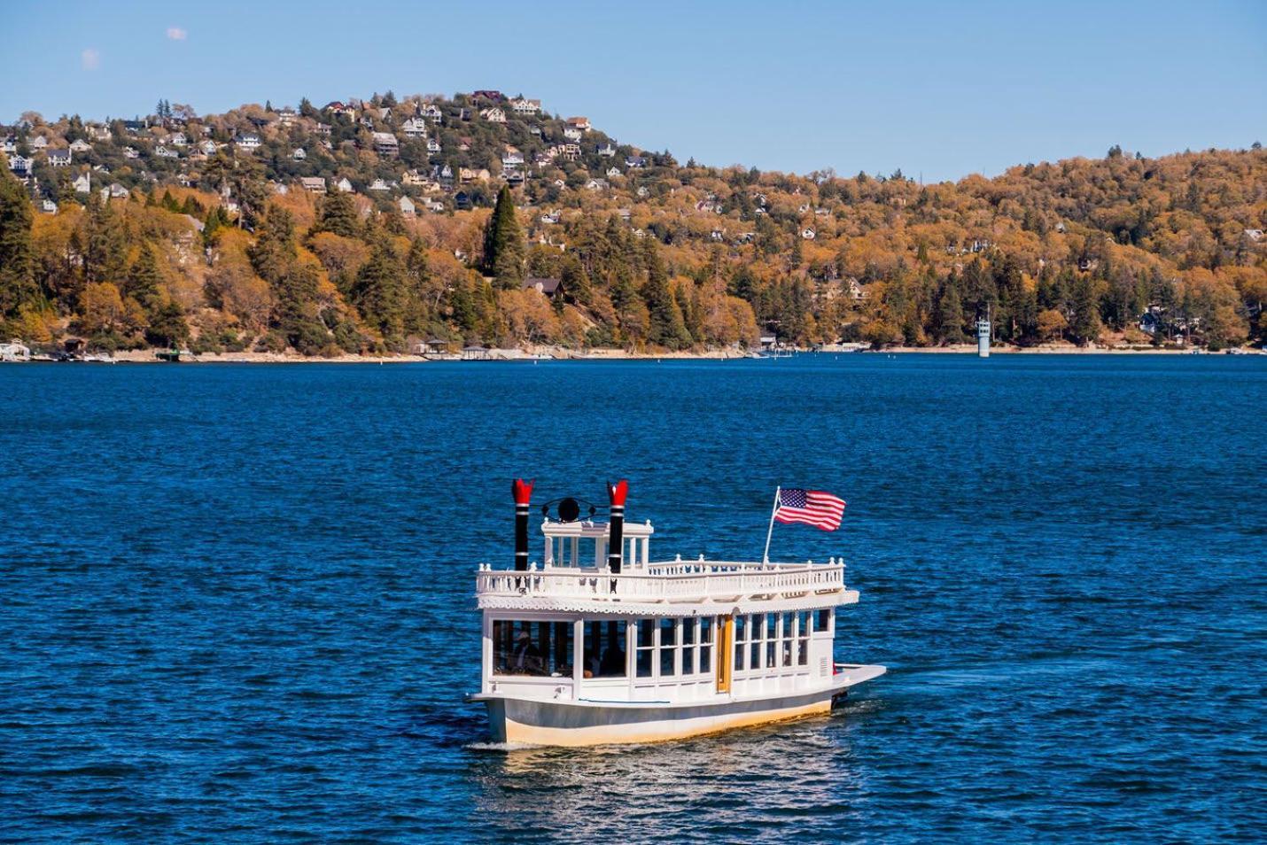
<instances>
[{"instance_id":1,"label":"white balustrade railing around the tour boat's upper deck","mask_svg":"<svg viewBox=\"0 0 1267 845\"><path fill-rule=\"evenodd\" d=\"M767 593L843 589L845 566L829 564L748 564L739 561L673 561L649 564L644 571L601 573L594 569L485 569L476 573L478 595L640 599L731 598Z\"/></svg>"}]
</instances>

